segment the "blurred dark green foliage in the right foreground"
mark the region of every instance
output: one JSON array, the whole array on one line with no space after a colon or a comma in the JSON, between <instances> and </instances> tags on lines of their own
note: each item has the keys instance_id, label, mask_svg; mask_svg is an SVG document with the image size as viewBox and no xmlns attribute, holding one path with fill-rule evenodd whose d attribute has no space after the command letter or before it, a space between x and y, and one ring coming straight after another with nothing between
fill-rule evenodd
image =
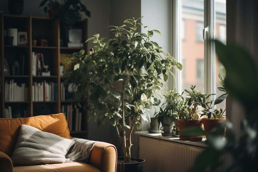
<instances>
[{"instance_id":1,"label":"blurred dark green foliage in the right foreground","mask_svg":"<svg viewBox=\"0 0 258 172\"><path fill-rule=\"evenodd\" d=\"M220 90L228 92L230 97L243 105L245 118L241 121L241 133L234 133L229 122L222 122L220 127L207 133L209 147L196 159L190 171L257 171L258 71L255 62L246 50L237 45L215 41L215 46L218 58L226 69L225 88ZM224 127L226 140L221 140L222 136L218 133Z\"/></svg>"}]
</instances>

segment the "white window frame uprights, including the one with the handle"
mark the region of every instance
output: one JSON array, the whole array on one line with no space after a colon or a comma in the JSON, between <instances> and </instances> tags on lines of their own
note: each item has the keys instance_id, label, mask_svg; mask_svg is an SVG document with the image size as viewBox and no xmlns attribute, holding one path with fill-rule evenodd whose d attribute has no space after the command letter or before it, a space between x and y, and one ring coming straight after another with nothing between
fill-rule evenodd
<instances>
[{"instance_id":1,"label":"white window frame uprights, including the one with the handle","mask_svg":"<svg viewBox=\"0 0 258 172\"><path fill-rule=\"evenodd\" d=\"M173 20L173 34L172 34L172 46L173 46L173 56L178 60L180 59L180 0L173 0L172 4L172 20ZM214 0L204 0L204 28L209 27L208 34L206 34L206 39L204 40L204 92L214 93L215 92L215 77L214 77ZM176 87L177 91L181 93L180 90L180 78L181 73L178 69L174 70L176 72L177 81L176 83L172 81L172 87ZM214 99L214 96L211 96Z\"/></svg>"}]
</instances>

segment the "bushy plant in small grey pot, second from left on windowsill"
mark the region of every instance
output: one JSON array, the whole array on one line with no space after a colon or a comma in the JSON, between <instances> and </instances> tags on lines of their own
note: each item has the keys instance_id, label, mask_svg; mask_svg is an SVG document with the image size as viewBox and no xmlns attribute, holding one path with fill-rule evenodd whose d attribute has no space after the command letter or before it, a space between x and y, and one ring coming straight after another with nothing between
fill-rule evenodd
<instances>
[{"instance_id":1,"label":"bushy plant in small grey pot, second from left on windowsill","mask_svg":"<svg viewBox=\"0 0 258 172\"><path fill-rule=\"evenodd\" d=\"M181 95L176 92L176 89L172 89L164 95L165 101L161 105L160 113L156 116L159 125L162 124L163 136L172 136L172 127L177 117L178 109L177 104L180 101Z\"/></svg>"}]
</instances>

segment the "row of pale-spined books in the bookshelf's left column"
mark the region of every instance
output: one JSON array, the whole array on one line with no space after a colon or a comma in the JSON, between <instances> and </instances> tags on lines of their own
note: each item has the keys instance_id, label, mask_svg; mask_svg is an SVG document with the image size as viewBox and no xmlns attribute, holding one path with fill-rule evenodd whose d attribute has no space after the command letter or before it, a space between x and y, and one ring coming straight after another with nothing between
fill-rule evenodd
<instances>
[{"instance_id":1,"label":"row of pale-spined books in the bookshelf's left column","mask_svg":"<svg viewBox=\"0 0 258 172\"><path fill-rule=\"evenodd\" d=\"M13 79L5 81L5 101L28 101L28 86Z\"/></svg>"}]
</instances>

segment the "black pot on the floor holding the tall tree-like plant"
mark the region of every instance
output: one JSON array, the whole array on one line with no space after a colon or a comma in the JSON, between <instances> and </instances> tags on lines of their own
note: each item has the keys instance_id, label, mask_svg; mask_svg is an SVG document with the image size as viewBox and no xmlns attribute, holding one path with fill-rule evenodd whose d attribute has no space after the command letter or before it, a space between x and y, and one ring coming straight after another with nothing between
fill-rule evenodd
<instances>
[{"instance_id":1,"label":"black pot on the floor holding the tall tree-like plant","mask_svg":"<svg viewBox=\"0 0 258 172\"><path fill-rule=\"evenodd\" d=\"M117 157L117 160L124 161L124 157ZM144 161L144 159L131 158L130 164L117 162L116 172L142 172Z\"/></svg>"}]
</instances>

